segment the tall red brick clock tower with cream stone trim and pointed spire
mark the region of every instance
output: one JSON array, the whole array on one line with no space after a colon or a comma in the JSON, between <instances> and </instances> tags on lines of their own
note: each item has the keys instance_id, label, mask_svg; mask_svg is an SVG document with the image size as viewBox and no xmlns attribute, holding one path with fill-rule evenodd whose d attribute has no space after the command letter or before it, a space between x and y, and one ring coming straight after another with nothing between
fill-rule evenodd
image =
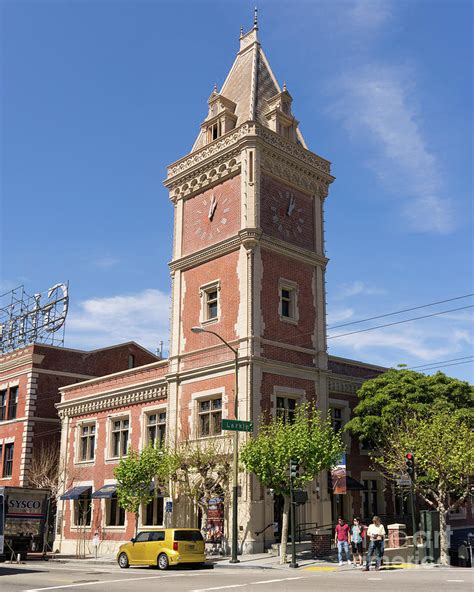
<instances>
[{"instance_id":1,"label":"tall red brick clock tower with cream stone trim and pointed spire","mask_svg":"<svg viewBox=\"0 0 474 592\"><path fill-rule=\"evenodd\" d=\"M171 442L222 439L221 418L234 416L234 356L195 326L238 350L240 419L258 426L264 412L291 417L302 400L327 409L323 203L334 178L306 147L257 31L255 23L241 33L191 152L165 181L174 205ZM321 475L301 521L331 521L326 491ZM279 500L241 474L239 546L263 550L273 530L261 531L278 514Z\"/></svg>"}]
</instances>

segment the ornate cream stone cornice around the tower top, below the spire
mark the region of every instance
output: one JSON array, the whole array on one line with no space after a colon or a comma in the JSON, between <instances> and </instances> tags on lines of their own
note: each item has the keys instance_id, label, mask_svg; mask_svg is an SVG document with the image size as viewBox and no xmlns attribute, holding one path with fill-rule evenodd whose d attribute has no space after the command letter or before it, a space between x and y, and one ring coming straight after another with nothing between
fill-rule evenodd
<instances>
[{"instance_id":1,"label":"ornate cream stone cornice around the tower top, below the spire","mask_svg":"<svg viewBox=\"0 0 474 592\"><path fill-rule=\"evenodd\" d=\"M261 147L266 149L267 160L271 157L291 169L290 179L293 177L295 181L298 181L299 177L302 179L309 177L309 180L304 181L307 190L314 193L324 192L324 189L318 187L318 183L322 183L327 188L327 185L334 180L330 174L331 164L329 161L260 124L245 122L237 129L168 167L168 176L164 184L170 190L171 199L177 200L188 195L190 191L197 191L206 184L211 185L213 182L218 182L225 174L228 174L229 167L231 169L240 168L240 151L249 140L254 143L258 141ZM270 147L274 150L270 151ZM235 162L232 162L233 160ZM224 168L218 177L220 167ZM199 183L201 186L197 187ZM183 189L184 185L186 185L185 189Z\"/></svg>"}]
</instances>

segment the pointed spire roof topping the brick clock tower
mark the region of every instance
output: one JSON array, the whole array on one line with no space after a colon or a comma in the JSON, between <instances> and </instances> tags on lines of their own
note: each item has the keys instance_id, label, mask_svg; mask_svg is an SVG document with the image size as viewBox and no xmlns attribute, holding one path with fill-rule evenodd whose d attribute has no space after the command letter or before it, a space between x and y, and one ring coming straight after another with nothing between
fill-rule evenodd
<instances>
[{"instance_id":1,"label":"pointed spire roof topping the brick clock tower","mask_svg":"<svg viewBox=\"0 0 474 592\"><path fill-rule=\"evenodd\" d=\"M258 40L258 21L255 9L253 28L240 34L240 49L220 90L220 95L236 104L236 127L245 121L257 121L265 127L268 120L267 100L282 92ZM286 84L283 89L286 91ZM306 148L301 132L297 130L298 142ZM203 130L198 135L192 151L203 147L206 136Z\"/></svg>"}]
</instances>

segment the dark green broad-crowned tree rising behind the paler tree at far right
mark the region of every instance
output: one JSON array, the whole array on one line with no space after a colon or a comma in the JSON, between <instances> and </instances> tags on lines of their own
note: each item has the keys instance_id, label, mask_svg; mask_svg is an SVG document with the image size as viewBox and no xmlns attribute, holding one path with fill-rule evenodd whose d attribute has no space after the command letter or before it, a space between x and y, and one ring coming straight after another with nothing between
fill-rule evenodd
<instances>
[{"instance_id":1,"label":"dark green broad-crowned tree rising behind the paler tree at far right","mask_svg":"<svg viewBox=\"0 0 474 592\"><path fill-rule=\"evenodd\" d=\"M442 372L427 376L392 368L364 382L357 394L354 417L344 429L374 447L383 444L394 422L405 418L459 409L474 424L474 387Z\"/></svg>"}]
</instances>

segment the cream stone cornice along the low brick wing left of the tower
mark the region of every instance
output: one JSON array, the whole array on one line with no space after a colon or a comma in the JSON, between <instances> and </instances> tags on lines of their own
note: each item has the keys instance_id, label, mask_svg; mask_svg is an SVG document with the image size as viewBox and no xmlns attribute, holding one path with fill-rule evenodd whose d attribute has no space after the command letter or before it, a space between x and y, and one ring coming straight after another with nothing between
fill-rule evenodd
<instances>
[{"instance_id":1,"label":"cream stone cornice along the low brick wing left of the tower","mask_svg":"<svg viewBox=\"0 0 474 592\"><path fill-rule=\"evenodd\" d=\"M149 388L130 389L121 393L105 393L101 395L89 395L82 399L72 399L57 403L56 408L61 419L64 417L75 417L97 413L107 409L128 407L138 403L166 399L168 396L167 384L155 385Z\"/></svg>"}]
</instances>

